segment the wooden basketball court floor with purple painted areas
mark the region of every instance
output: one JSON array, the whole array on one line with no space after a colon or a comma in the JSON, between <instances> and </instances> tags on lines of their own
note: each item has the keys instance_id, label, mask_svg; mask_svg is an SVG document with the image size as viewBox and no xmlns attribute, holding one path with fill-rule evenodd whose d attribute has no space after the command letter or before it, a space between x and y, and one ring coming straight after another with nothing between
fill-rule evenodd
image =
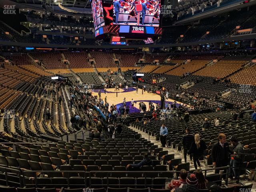
<instances>
[{"instance_id":1,"label":"wooden basketball court floor with purple painted areas","mask_svg":"<svg viewBox=\"0 0 256 192\"><path fill-rule=\"evenodd\" d=\"M119 91L115 91L115 88L109 88L106 89L106 94L104 93L104 89L100 89L101 91L101 98L104 100L104 98L107 96L107 102L111 106L112 104L116 105L117 109L122 105L123 99L126 98L126 105L130 106L130 113L140 112L139 110L139 102L144 102L147 106L149 106L149 102L151 101L154 106L156 106L157 103L160 104L160 95L155 93L148 93L147 91L143 91L142 89L138 89L138 93L136 93L135 87L129 87L128 90L125 90L125 88L120 88ZM117 94L116 94L117 93ZM92 92L93 96L98 96L98 89L94 89ZM134 109L132 109L131 101L134 100ZM172 99L168 99L170 104L174 102ZM181 102L176 102L177 107ZM183 104L183 103L181 103ZM188 105L189 106L189 105Z\"/></svg>"}]
</instances>

